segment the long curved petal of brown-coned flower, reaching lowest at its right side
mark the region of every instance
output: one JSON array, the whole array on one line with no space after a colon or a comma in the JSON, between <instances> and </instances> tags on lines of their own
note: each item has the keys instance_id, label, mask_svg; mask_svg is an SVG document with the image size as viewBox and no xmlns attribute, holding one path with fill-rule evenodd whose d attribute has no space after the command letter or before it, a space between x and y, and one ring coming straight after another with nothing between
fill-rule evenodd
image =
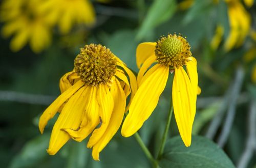
<instances>
[{"instance_id":1,"label":"long curved petal of brown-coned flower, reaching lowest at its right side","mask_svg":"<svg viewBox=\"0 0 256 168\"><path fill-rule=\"evenodd\" d=\"M93 146L94 160L99 160L99 153L110 142L111 138L115 135L123 120L126 98L117 79L113 82L111 87L111 95L114 99L114 108L111 115L110 124L108 125L108 128L99 139L97 144Z\"/></svg>"}]
</instances>

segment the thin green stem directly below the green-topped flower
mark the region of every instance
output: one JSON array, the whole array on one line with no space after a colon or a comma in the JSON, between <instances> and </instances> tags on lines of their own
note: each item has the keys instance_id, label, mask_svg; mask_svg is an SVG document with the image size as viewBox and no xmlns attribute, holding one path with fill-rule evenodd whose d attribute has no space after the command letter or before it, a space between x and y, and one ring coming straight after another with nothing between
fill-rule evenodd
<instances>
[{"instance_id":1,"label":"thin green stem directly below the green-topped flower","mask_svg":"<svg viewBox=\"0 0 256 168\"><path fill-rule=\"evenodd\" d=\"M172 104L173 103L171 101L170 108L169 108L169 113L168 113L168 118L167 118L167 122L166 122L166 125L165 125L162 141L161 141L161 146L160 146L159 153L158 153L158 156L157 156L158 159L162 156L164 146L165 146L165 143L166 143L166 138L167 138L169 127L170 127L170 120L172 119L173 109L174 109Z\"/></svg>"}]
</instances>

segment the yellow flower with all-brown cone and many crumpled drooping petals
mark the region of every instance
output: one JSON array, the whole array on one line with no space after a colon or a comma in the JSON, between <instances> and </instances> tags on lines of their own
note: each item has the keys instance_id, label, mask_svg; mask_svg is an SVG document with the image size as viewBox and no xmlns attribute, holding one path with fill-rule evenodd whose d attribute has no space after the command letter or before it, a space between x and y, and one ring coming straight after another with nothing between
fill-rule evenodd
<instances>
[{"instance_id":1,"label":"yellow flower with all-brown cone and many crumpled drooping petals","mask_svg":"<svg viewBox=\"0 0 256 168\"><path fill-rule=\"evenodd\" d=\"M80 49L74 70L60 79L60 90L39 120L43 133L47 122L60 112L48 153L56 154L70 138L81 142L92 133L87 147L93 148L93 158L99 160L99 153L121 125L127 96L131 93L132 99L137 90L136 77L110 49L90 44Z\"/></svg>"}]
</instances>

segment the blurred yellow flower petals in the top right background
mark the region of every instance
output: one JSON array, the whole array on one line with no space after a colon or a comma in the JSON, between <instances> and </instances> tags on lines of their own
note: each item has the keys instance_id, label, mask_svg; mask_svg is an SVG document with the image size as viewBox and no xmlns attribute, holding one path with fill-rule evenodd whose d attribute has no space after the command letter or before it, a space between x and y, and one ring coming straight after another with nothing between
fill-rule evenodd
<instances>
[{"instance_id":1,"label":"blurred yellow flower petals in the top right background","mask_svg":"<svg viewBox=\"0 0 256 168\"><path fill-rule=\"evenodd\" d=\"M238 0L226 0L226 2L230 32L225 41L224 49L229 51L233 47L239 47L244 43L250 31L251 17Z\"/></svg>"}]
</instances>

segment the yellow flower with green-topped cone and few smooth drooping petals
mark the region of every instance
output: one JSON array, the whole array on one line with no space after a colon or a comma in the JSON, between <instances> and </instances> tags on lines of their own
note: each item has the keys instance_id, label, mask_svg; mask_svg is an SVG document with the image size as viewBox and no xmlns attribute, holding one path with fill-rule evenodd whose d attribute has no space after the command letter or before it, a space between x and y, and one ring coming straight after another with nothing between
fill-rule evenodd
<instances>
[{"instance_id":1,"label":"yellow flower with green-topped cone and few smooth drooping petals","mask_svg":"<svg viewBox=\"0 0 256 168\"><path fill-rule=\"evenodd\" d=\"M139 88L124 120L122 135L133 135L150 117L166 86L169 72L174 71L174 114L181 138L185 146L190 146L198 90L197 61L191 57L190 45L182 36L168 35L156 43L139 44L136 58L140 68L137 76ZM154 63L156 64L153 65ZM183 69L184 65L187 73ZM148 68L150 69L147 70Z\"/></svg>"}]
</instances>

